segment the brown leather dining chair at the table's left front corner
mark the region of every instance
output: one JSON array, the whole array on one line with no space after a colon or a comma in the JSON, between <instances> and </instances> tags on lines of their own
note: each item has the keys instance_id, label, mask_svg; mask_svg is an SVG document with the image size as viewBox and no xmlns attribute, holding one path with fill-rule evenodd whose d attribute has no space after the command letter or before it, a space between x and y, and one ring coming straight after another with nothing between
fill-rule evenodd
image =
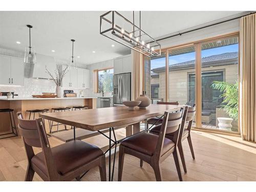
<instances>
[{"instance_id":1,"label":"brown leather dining chair at the table's left front corner","mask_svg":"<svg viewBox=\"0 0 256 192\"><path fill-rule=\"evenodd\" d=\"M74 140L50 147L42 118L23 119L18 115L18 130L28 158L25 181L32 181L36 172L44 181L71 181L98 166L101 181L106 181L105 155L97 146ZM42 152L35 155L33 147Z\"/></svg>"}]
</instances>

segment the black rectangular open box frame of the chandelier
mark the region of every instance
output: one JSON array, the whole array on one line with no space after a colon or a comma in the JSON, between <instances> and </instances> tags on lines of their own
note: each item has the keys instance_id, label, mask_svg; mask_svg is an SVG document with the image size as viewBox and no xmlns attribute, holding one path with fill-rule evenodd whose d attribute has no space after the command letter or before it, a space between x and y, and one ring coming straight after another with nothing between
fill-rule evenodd
<instances>
[{"instance_id":1,"label":"black rectangular open box frame of the chandelier","mask_svg":"<svg viewBox=\"0 0 256 192\"><path fill-rule=\"evenodd\" d=\"M109 20L108 18L105 17L110 14L111 14L111 20ZM116 25L115 24L115 18L116 18L115 14L118 15L119 17L121 17L122 19L124 19L125 22L131 24L133 27L133 31L131 31L131 32L126 31L123 28L121 28L120 26ZM102 20L111 24L111 27L102 31ZM132 46L126 45L124 42L116 40L116 39L112 38L111 36L108 36L106 33L110 32L110 31L111 31L112 35L122 39L123 41L127 42L128 44L130 44ZM135 36L134 35L135 32L139 32L140 35ZM143 43L142 41L140 41L140 38L142 36L141 33L143 36L145 35L148 38L147 41L151 41L151 44L153 43L154 45L150 46L148 48L147 46L149 46L150 44L146 45L146 42ZM129 19L125 18L117 11L108 11L100 16L100 34L104 35L105 37L108 37L108 38L118 42L119 44L122 44L122 45L130 48L130 49L133 49L139 53L142 53L145 56L148 56L148 57L161 56L161 45L154 38L152 38L150 35L145 33L142 29L137 27L134 23L130 22ZM132 37L130 36L131 34L133 34ZM139 50L135 49L135 47L139 48ZM159 52L155 51L155 49L154 49L155 47L157 48L157 50Z\"/></svg>"}]
</instances>

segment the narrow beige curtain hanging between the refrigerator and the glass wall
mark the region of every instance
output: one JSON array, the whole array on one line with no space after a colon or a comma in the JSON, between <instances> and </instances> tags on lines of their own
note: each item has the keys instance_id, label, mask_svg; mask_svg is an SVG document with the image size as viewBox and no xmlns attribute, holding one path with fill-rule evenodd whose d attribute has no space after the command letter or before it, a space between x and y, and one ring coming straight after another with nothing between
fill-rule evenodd
<instances>
[{"instance_id":1,"label":"narrow beige curtain hanging between the refrigerator and the glass wall","mask_svg":"<svg viewBox=\"0 0 256 192\"><path fill-rule=\"evenodd\" d=\"M139 49L139 48L135 48ZM143 86L143 54L138 51L133 51L133 95L132 100L135 100L142 94Z\"/></svg>"}]
</instances>

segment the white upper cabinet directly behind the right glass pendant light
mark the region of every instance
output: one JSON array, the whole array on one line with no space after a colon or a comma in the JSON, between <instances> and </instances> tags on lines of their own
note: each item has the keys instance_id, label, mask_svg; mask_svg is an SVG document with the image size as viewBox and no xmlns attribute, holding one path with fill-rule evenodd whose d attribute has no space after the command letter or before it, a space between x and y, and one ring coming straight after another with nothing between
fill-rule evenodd
<instances>
[{"instance_id":1,"label":"white upper cabinet directly behind the right glass pendant light","mask_svg":"<svg viewBox=\"0 0 256 192\"><path fill-rule=\"evenodd\" d=\"M67 66L62 66L64 70ZM64 88L77 88L77 69L71 68L62 79L62 87Z\"/></svg>"}]
</instances>

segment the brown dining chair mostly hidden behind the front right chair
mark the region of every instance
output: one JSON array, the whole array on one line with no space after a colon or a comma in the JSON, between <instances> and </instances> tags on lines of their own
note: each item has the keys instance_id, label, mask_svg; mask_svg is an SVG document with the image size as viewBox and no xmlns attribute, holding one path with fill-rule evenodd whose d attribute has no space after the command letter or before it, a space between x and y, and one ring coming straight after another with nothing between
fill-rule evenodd
<instances>
[{"instance_id":1,"label":"brown dining chair mostly hidden behind the front right chair","mask_svg":"<svg viewBox=\"0 0 256 192\"><path fill-rule=\"evenodd\" d=\"M193 123L193 119L195 117L195 114L196 114L196 104L194 104L194 106L190 106L188 108L187 116L186 116L186 122L188 122L188 125L184 129L182 139L181 139L181 141L187 139L188 145L189 145L189 148L190 148L190 152L191 152L191 155L192 155L193 159L195 159L195 154L194 154L193 145L192 145L192 141L191 141L190 131L191 131L191 127L192 127L192 123ZM159 120L159 122L162 123L162 120ZM157 125L157 126L152 128L150 133L158 135L160 133L160 129L161 129L161 125ZM165 135L165 137L170 139L170 140L173 140L175 136L174 136L173 133L167 133ZM182 162L184 172L187 173L182 142L178 143L178 150L179 150L179 154L180 154L180 158L181 158L181 162Z\"/></svg>"}]
</instances>

